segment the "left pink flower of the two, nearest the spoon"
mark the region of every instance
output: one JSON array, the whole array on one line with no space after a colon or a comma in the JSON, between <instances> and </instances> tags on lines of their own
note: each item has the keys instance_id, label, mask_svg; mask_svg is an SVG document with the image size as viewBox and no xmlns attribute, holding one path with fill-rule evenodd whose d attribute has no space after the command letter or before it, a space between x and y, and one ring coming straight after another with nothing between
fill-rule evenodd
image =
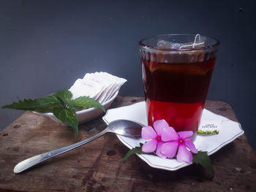
<instances>
[{"instance_id":1,"label":"left pink flower of the two, nearest the spoon","mask_svg":"<svg viewBox=\"0 0 256 192\"><path fill-rule=\"evenodd\" d=\"M141 137L143 139L151 139L143 144L142 151L144 153L152 153L157 149L157 155L161 158L166 158L166 155L160 153L161 146L164 144L164 142L162 142L162 132L165 128L169 128L169 125L165 120L156 120L154 122L154 128L151 126L142 128Z\"/></svg>"}]
</instances>

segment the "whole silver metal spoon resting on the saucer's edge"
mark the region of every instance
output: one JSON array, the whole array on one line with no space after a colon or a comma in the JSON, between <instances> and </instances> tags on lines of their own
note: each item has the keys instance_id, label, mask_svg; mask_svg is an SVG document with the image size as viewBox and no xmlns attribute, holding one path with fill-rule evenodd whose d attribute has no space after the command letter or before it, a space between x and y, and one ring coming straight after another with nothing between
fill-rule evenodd
<instances>
[{"instance_id":1,"label":"whole silver metal spoon resting on the saucer's edge","mask_svg":"<svg viewBox=\"0 0 256 192\"><path fill-rule=\"evenodd\" d=\"M60 155L61 153L65 153L69 150L75 149L76 147L80 147L81 145L91 142L92 140L97 139L98 137L101 137L103 134L106 134L108 132L124 135L124 136L139 136L141 134L141 128L142 128L142 125L132 122L130 120L114 120L108 124L105 130L103 130L97 135L94 135L93 137L90 137L89 139L85 139L81 142L74 143L67 147L62 147L60 149L52 150L47 153L42 153L40 155L36 155L34 157L27 158L26 160L21 161L15 166L15 168L13 169L13 172L15 173L23 172L26 169L29 169L31 166L39 164L42 161L47 160L48 158L52 158L56 155Z\"/></svg>"}]
</instances>

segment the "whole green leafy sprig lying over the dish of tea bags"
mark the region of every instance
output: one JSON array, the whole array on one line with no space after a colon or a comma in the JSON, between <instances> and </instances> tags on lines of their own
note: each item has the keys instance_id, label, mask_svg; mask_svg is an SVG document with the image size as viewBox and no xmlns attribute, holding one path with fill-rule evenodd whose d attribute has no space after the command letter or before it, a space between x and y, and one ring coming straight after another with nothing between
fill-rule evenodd
<instances>
[{"instance_id":1,"label":"whole green leafy sprig lying over the dish of tea bags","mask_svg":"<svg viewBox=\"0 0 256 192\"><path fill-rule=\"evenodd\" d=\"M24 99L4 105L2 109L26 110L36 112L53 112L61 122L67 123L74 130L75 137L78 136L78 117L75 111L84 110L91 107L99 107L105 112L105 108L98 101L88 96L80 96L72 99L72 93L64 88L53 95L37 99Z\"/></svg>"}]
</instances>

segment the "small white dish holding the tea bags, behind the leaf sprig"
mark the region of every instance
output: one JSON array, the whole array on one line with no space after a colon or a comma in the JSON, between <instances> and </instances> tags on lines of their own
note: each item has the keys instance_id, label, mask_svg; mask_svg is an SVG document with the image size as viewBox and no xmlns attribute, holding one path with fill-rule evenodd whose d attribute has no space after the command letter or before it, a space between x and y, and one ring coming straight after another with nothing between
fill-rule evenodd
<instances>
[{"instance_id":1,"label":"small white dish holding the tea bags, behind the leaf sprig","mask_svg":"<svg viewBox=\"0 0 256 192\"><path fill-rule=\"evenodd\" d=\"M116 99L116 96L118 95L118 91L116 91L113 96L108 99L108 101L105 101L102 105L104 106L105 110L108 110L108 107L113 103L113 101ZM61 120L57 119L52 112L34 112L39 115L45 115L48 118L51 118L52 120L56 121L57 123L62 123ZM99 115L102 115L103 111L99 108L89 108L87 110L81 110L76 112L76 115L78 116L78 122L79 123L86 123L89 120L93 120L94 118L99 117ZM66 123L62 123L62 125L67 126Z\"/></svg>"}]
</instances>

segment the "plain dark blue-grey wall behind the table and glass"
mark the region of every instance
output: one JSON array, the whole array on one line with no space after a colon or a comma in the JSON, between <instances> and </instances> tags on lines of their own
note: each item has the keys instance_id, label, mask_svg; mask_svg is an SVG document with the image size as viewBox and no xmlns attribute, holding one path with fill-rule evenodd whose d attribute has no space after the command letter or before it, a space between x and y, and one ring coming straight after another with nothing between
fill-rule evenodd
<instances>
[{"instance_id":1,"label":"plain dark blue-grey wall behind the table and glass","mask_svg":"<svg viewBox=\"0 0 256 192\"><path fill-rule=\"evenodd\" d=\"M253 1L0 1L0 105L97 71L128 80L120 95L143 96L138 41L199 33L221 42L208 99L233 107L256 149L255 18ZM0 110L0 129L22 113Z\"/></svg>"}]
</instances>

